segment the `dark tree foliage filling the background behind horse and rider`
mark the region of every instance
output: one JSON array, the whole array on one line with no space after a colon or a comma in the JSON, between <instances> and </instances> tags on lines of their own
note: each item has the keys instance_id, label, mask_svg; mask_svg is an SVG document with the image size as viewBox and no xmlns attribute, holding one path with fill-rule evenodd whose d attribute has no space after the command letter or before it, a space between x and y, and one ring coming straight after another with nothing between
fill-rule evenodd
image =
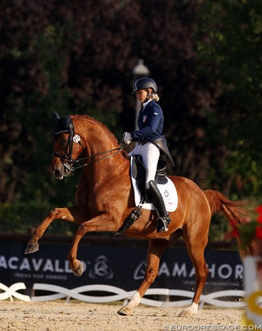
<instances>
[{"instance_id":1,"label":"dark tree foliage filling the background behind horse and rider","mask_svg":"<svg viewBox=\"0 0 262 331\"><path fill-rule=\"evenodd\" d=\"M261 203L260 2L1 1L0 232L26 232L74 203L79 173L49 174L52 112L89 114L116 137L133 130L138 59L159 86L170 173ZM210 239L227 228L215 217Z\"/></svg>"}]
</instances>

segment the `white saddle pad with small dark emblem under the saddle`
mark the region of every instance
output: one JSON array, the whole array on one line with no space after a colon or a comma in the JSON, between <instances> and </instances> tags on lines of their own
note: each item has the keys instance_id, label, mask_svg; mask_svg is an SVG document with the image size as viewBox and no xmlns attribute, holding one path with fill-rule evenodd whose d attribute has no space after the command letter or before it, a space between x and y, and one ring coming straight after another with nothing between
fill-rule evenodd
<instances>
[{"instance_id":1,"label":"white saddle pad with small dark emblem under the saddle","mask_svg":"<svg viewBox=\"0 0 262 331\"><path fill-rule=\"evenodd\" d=\"M131 162L131 179L132 179L132 185L134 188L134 202L136 206L140 205L141 201L141 194L139 192L139 188L137 188L136 180L134 179L132 175L132 164L133 164L133 157L131 156L130 159ZM161 193L163 197L163 201L165 203L165 209L167 212L174 212L174 210L177 210L178 205L178 196L177 196L177 189L174 186L174 183L168 179L168 183L165 184L157 184L157 188L159 189L159 192ZM143 203L142 204L143 209L149 209L149 210L155 210L153 203Z\"/></svg>"}]
</instances>

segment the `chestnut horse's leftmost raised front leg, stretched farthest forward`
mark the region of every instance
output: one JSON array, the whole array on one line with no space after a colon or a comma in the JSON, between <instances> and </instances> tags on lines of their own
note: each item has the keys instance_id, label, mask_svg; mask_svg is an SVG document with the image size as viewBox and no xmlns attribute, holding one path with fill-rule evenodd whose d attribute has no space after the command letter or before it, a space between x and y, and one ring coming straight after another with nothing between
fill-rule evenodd
<instances>
[{"instance_id":1,"label":"chestnut horse's leftmost raised front leg, stretched farthest forward","mask_svg":"<svg viewBox=\"0 0 262 331\"><path fill-rule=\"evenodd\" d=\"M63 219L68 222L81 224L83 221L86 221L86 213L81 212L77 206L71 208L54 208L50 210L48 216L43 219L41 224L39 224L34 230L32 237L26 246L25 254L30 254L39 250L38 241L54 219Z\"/></svg>"}]
</instances>

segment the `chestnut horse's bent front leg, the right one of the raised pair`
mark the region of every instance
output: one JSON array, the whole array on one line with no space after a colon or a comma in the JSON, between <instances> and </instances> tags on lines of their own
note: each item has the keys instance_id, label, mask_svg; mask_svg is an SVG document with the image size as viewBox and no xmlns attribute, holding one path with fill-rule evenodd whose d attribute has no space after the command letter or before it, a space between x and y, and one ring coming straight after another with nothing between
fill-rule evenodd
<instances>
[{"instance_id":1,"label":"chestnut horse's bent front leg, the right one of the raised pair","mask_svg":"<svg viewBox=\"0 0 262 331\"><path fill-rule=\"evenodd\" d=\"M81 276L83 274L83 263L77 260L77 249L83 235L87 232L117 232L120 227L119 219L121 217L117 214L113 216L113 214L103 213L79 225L79 228L74 234L70 252L68 252L70 268L75 276Z\"/></svg>"}]
</instances>

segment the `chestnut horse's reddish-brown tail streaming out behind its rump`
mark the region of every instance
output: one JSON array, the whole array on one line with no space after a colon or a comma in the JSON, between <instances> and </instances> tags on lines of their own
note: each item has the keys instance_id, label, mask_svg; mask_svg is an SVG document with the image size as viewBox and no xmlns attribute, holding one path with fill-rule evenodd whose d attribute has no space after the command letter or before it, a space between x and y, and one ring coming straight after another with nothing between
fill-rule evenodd
<instances>
[{"instance_id":1,"label":"chestnut horse's reddish-brown tail streaming out behind its rump","mask_svg":"<svg viewBox=\"0 0 262 331\"><path fill-rule=\"evenodd\" d=\"M238 224L243 224L248 212L245 210L245 201L231 201L222 193L215 190L204 190L205 197L210 205L211 216L216 213L223 213L233 228ZM240 250L241 256L244 254ZM248 245L245 254L254 255L254 243Z\"/></svg>"}]
</instances>

